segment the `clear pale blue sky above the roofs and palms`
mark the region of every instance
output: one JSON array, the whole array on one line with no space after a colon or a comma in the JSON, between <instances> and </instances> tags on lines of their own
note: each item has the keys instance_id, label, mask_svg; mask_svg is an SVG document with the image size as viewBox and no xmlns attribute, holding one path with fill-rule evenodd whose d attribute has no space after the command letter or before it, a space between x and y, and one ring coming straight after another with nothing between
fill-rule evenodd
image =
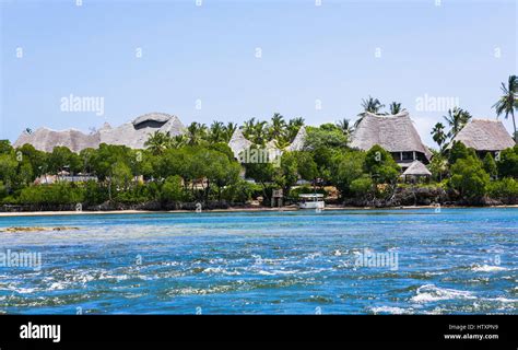
<instances>
[{"instance_id":1,"label":"clear pale blue sky above the roofs and palms","mask_svg":"<svg viewBox=\"0 0 518 350\"><path fill-rule=\"evenodd\" d=\"M354 119L373 95L401 102L433 145L446 112L416 110L417 98L495 118L499 84L518 72L513 0L0 2L0 139L11 141L26 127L87 131L149 112L319 125ZM70 94L103 97L104 115L62 112Z\"/></svg>"}]
</instances>

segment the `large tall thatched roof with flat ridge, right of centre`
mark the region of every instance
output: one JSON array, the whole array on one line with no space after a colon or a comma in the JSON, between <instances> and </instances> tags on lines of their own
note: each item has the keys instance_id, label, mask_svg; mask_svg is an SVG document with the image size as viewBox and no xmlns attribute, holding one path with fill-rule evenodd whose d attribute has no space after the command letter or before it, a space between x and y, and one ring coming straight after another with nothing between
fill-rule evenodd
<instances>
[{"instance_id":1,"label":"large tall thatched roof with flat ridge, right of centre","mask_svg":"<svg viewBox=\"0 0 518 350\"><path fill-rule=\"evenodd\" d=\"M368 150L379 144L389 152L421 152L427 159L432 153L421 141L408 112L391 116L366 113L352 135L351 147Z\"/></svg>"}]
</instances>

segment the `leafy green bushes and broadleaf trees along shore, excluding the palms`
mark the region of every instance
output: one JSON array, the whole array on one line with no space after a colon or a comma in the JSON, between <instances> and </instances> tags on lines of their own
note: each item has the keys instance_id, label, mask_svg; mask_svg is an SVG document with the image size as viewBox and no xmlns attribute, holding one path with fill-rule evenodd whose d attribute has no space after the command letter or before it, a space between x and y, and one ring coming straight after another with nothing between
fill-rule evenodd
<instances>
[{"instance_id":1,"label":"leafy green bushes and broadleaf trees along shore, excluding the palms","mask_svg":"<svg viewBox=\"0 0 518 350\"><path fill-rule=\"evenodd\" d=\"M364 152L348 147L348 136L339 126L307 128L303 151L285 151L280 166L274 163L239 164L223 142L203 145L168 144L156 149L131 150L122 145L102 144L79 154L57 147L51 153L25 144L13 149L0 143L0 201L11 205L98 206L104 202L136 205L155 201L175 202L225 201L245 203L258 197L270 203L275 188L284 190L286 200L295 200L301 191L335 187L340 198L389 199L401 183L400 168L391 154L379 145ZM156 137L156 136L154 136ZM162 136L167 139L166 136ZM170 140L168 140L169 142ZM495 160L490 153L480 159L475 152L456 142L436 152L428 165L429 184L448 191L452 199L479 202L484 197L518 198L518 145L503 151ZM83 183L57 182L35 184L63 171L92 174L98 178ZM247 179L242 179L244 172ZM305 187L297 182L306 180ZM339 201L340 202L340 201Z\"/></svg>"}]
</instances>

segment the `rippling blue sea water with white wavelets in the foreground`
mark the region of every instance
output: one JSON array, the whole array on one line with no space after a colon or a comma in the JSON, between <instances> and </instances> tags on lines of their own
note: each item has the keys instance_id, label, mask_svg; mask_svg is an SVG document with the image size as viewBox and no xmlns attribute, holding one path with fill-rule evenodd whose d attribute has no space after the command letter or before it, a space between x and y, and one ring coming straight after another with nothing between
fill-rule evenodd
<instances>
[{"instance_id":1,"label":"rippling blue sea water with white wavelets in the foreground","mask_svg":"<svg viewBox=\"0 0 518 350\"><path fill-rule=\"evenodd\" d=\"M0 313L518 313L513 208L0 218L9 226L80 230L0 233Z\"/></svg>"}]
</instances>

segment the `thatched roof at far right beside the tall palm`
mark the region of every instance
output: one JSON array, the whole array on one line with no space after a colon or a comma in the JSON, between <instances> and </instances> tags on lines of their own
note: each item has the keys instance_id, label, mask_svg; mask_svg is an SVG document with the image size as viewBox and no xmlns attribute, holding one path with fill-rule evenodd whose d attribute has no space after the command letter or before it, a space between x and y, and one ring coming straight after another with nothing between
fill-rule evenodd
<instances>
[{"instance_id":1,"label":"thatched roof at far right beside the tall palm","mask_svg":"<svg viewBox=\"0 0 518 350\"><path fill-rule=\"evenodd\" d=\"M502 121L487 119L472 119L457 133L454 141L461 141L476 151L502 151L515 145Z\"/></svg>"}]
</instances>

